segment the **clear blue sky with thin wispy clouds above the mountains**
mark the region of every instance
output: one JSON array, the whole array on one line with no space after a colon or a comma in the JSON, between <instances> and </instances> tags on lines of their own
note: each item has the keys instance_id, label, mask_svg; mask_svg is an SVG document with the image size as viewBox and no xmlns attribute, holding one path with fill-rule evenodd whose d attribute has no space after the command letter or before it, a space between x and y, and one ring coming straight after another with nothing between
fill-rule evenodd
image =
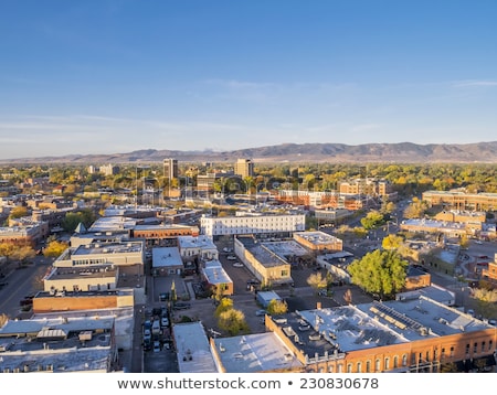
<instances>
[{"instance_id":1,"label":"clear blue sky with thin wispy clouds above the mountains","mask_svg":"<svg viewBox=\"0 0 497 395\"><path fill-rule=\"evenodd\" d=\"M0 1L0 159L497 134L497 2Z\"/></svg>"}]
</instances>

